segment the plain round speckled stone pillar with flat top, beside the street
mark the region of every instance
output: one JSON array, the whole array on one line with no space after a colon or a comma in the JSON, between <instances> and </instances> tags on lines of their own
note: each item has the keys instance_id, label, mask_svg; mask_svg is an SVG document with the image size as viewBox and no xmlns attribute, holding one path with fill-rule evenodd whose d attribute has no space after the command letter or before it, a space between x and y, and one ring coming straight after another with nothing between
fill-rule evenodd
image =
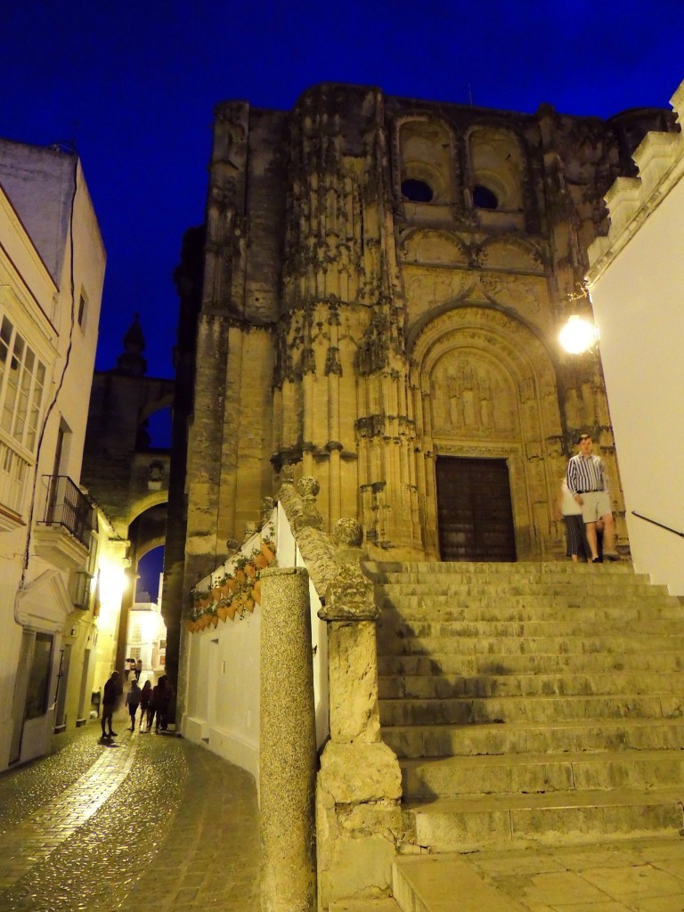
<instances>
[{"instance_id":1,"label":"plain round speckled stone pillar with flat top, beside the street","mask_svg":"<svg viewBox=\"0 0 684 912\"><path fill-rule=\"evenodd\" d=\"M316 720L309 575L264 570L261 618L261 908L316 908Z\"/></svg>"}]
</instances>

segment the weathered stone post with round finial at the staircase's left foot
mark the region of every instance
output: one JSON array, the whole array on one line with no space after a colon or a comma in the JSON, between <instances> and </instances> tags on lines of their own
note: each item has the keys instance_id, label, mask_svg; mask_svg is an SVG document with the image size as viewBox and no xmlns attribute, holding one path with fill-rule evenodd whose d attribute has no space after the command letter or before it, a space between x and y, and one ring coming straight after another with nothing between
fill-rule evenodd
<instances>
[{"instance_id":1,"label":"weathered stone post with round finial at the staircase's left foot","mask_svg":"<svg viewBox=\"0 0 684 912\"><path fill-rule=\"evenodd\" d=\"M401 772L380 741L378 607L361 573L361 526L339 520L337 574L318 616L327 622L330 741L316 789L319 907L388 896L402 839Z\"/></svg>"}]
</instances>

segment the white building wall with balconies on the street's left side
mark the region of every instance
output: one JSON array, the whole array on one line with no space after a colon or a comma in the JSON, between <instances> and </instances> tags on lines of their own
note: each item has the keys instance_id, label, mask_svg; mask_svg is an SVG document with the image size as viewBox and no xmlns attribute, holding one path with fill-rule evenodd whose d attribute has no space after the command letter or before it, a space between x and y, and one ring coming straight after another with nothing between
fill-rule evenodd
<instances>
[{"instance_id":1,"label":"white building wall with balconies on the street's left side","mask_svg":"<svg viewBox=\"0 0 684 912\"><path fill-rule=\"evenodd\" d=\"M69 215L74 175L73 279ZM60 425L70 431L58 473L78 484L88 415L90 381L98 337L105 254L98 223L76 157L0 140L0 315L7 316L46 365L45 394L34 451L15 450L28 463L21 503L0 503L0 769L16 759L45 753L55 725L60 652L70 655L64 689L68 726L87 716L97 632L92 611L77 609L69 596L69 575L88 568L88 554L68 542L67 557L48 552L36 540L45 518L47 483L55 471ZM78 297L88 296L88 322L78 326ZM66 372L65 372L66 368ZM54 400L54 407L50 408ZM14 446L0 428L0 443ZM64 536L63 536L64 537ZM46 693L47 710L23 720L30 678L30 637L53 637ZM17 732L21 733L20 743ZM19 743L17 753L17 743Z\"/></svg>"}]
</instances>

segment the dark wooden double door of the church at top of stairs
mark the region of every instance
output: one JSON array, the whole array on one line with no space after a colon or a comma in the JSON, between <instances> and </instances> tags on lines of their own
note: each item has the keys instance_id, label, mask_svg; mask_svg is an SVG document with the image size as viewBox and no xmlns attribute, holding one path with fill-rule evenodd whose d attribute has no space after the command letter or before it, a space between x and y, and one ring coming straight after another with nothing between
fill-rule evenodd
<instances>
[{"instance_id":1,"label":"dark wooden double door of the church at top of stairs","mask_svg":"<svg viewBox=\"0 0 684 912\"><path fill-rule=\"evenodd\" d=\"M511 485L504 459L437 459L443 561L514 561Z\"/></svg>"}]
</instances>

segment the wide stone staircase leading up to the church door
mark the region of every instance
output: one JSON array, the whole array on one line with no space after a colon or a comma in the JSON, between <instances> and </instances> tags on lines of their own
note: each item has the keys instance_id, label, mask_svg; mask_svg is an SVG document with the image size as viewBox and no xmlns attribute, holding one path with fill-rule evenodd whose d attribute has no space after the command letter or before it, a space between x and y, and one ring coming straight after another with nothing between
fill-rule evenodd
<instances>
[{"instance_id":1,"label":"wide stone staircase leading up to the church door","mask_svg":"<svg viewBox=\"0 0 684 912\"><path fill-rule=\"evenodd\" d=\"M679 833L679 598L623 564L366 572L382 611L382 738L399 757L422 851ZM406 863L415 870L416 860ZM401 865L396 896L406 891Z\"/></svg>"}]
</instances>

